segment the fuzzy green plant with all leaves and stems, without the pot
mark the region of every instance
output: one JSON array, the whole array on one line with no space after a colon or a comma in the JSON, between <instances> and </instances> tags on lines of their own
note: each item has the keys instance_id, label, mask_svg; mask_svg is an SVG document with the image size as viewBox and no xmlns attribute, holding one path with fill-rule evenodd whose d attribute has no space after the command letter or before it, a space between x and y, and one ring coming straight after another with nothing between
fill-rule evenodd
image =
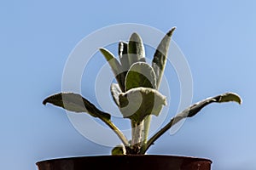
<instances>
[{"instance_id":1,"label":"fuzzy green plant with all leaves and stems, without the pot","mask_svg":"<svg viewBox=\"0 0 256 170\"><path fill-rule=\"evenodd\" d=\"M107 49L100 48L117 81L110 86L113 100L124 118L131 120L130 140L126 139L119 128L113 124L109 113L100 111L80 94L69 92L54 94L44 99L44 105L50 103L67 111L86 112L90 116L101 119L122 141L123 145L113 148L113 155L141 155L145 154L150 145L174 124L183 118L195 116L204 106L212 102L229 101L241 104L241 98L234 93L204 99L177 114L165 127L148 139L150 117L152 115L159 116L163 105L166 105L166 96L160 94L158 89L165 70L166 56L174 30L175 27L168 31L160 41L151 65L146 62L143 40L137 33L133 33L128 42L119 42L119 60Z\"/></svg>"}]
</instances>

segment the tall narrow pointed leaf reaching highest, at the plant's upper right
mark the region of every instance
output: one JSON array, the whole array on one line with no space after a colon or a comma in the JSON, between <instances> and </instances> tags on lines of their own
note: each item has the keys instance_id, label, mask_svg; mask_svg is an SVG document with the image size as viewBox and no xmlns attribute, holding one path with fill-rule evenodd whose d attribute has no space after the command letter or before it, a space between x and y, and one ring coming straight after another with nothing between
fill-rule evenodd
<instances>
[{"instance_id":1,"label":"tall narrow pointed leaf reaching highest, at the plant's upper right","mask_svg":"<svg viewBox=\"0 0 256 170\"><path fill-rule=\"evenodd\" d=\"M170 31L167 32L166 36L163 37L160 44L158 45L155 53L154 59L152 60L152 67L154 68L156 76L156 86L160 87L160 82L165 71L166 59L168 55L169 45L171 42L172 32L175 30L173 27Z\"/></svg>"}]
</instances>

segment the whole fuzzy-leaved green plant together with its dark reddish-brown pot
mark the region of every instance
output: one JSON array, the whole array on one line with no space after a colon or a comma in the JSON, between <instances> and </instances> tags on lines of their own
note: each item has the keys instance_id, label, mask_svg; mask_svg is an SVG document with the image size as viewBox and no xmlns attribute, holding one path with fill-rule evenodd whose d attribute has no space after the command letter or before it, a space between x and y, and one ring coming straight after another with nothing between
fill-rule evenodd
<instances>
[{"instance_id":1,"label":"whole fuzzy-leaved green plant together with its dark reddish-brown pot","mask_svg":"<svg viewBox=\"0 0 256 170\"><path fill-rule=\"evenodd\" d=\"M220 94L203 99L174 116L159 132L148 138L151 116L159 116L166 105L166 96L158 90L166 67L166 56L171 42L173 27L160 41L151 65L146 62L142 38L133 33L128 42L119 42L119 60L106 48L100 48L107 59L117 83L110 85L113 100L124 118L131 121L131 139L111 121L111 114L101 111L80 94L61 92L44 99L67 111L88 113L99 118L122 142L113 148L112 156L83 156L38 161L39 170L64 169L211 169L211 160L188 156L146 155L148 148L177 122L195 116L203 107L213 102L235 101L241 98L234 93Z\"/></svg>"}]
</instances>

